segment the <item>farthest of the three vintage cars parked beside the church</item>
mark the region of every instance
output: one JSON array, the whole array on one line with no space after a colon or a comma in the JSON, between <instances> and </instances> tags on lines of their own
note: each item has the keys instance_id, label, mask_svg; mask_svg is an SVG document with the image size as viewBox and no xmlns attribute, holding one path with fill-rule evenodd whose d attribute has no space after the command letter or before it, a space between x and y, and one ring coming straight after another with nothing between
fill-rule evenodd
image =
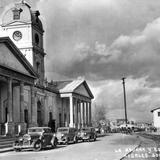
<instances>
[{"instance_id":1,"label":"farthest of the three vintage cars parked beside the church","mask_svg":"<svg viewBox=\"0 0 160 160\"><path fill-rule=\"evenodd\" d=\"M82 140L82 141L94 140L94 141L96 141L96 138L97 138L97 134L96 134L96 130L94 127L85 127L85 128L82 128L78 132L78 140Z\"/></svg>"}]
</instances>

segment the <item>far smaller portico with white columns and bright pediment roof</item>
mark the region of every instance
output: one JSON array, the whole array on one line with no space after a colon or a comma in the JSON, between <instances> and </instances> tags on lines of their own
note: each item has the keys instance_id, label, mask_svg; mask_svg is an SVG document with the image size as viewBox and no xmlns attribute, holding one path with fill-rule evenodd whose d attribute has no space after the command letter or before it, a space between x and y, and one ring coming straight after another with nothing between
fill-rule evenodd
<instances>
[{"instance_id":1,"label":"far smaller portico with white columns and bright pediment roof","mask_svg":"<svg viewBox=\"0 0 160 160\"><path fill-rule=\"evenodd\" d=\"M92 126L91 102L94 97L85 80L68 82L60 89L60 96L68 100L67 126L78 129Z\"/></svg>"}]
</instances>

